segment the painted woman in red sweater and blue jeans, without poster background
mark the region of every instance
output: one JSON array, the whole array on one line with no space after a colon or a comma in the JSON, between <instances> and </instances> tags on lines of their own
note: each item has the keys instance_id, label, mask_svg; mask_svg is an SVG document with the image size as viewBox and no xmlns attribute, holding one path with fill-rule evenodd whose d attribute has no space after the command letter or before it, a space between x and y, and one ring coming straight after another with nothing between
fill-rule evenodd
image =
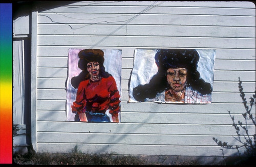
<instances>
[{"instance_id":1,"label":"painted woman in red sweater and blue jeans, without poster background","mask_svg":"<svg viewBox=\"0 0 256 167\"><path fill-rule=\"evenodd\" d=\"M83 49L78 57L78 68L82 71L70 79L72 87L77 89L71 104L74 121L119 122L120 94L115 78L105 71L104 52Z\"/></svg>"}]
</instances>

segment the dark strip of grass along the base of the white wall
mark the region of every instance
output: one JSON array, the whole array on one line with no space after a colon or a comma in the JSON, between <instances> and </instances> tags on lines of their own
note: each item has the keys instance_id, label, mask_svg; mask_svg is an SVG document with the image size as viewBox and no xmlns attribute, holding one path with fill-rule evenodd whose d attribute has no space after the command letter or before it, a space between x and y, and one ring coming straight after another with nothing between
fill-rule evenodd
<instances>
[{"instance_id":1,"label":"dark strip of grass along the base of the white wall","mask_svg":"<svg viewBox=\"0 0 256 167\"><path fill-rule=\"evenodd\" d=\"M15 153L15 164L30 165L251 165L255 157L244 159L222 157L206 160L204 157L180 157L173 156L132 156L110 154L85 154L77 146L70 153ZM207 161L207 162L206 162Z\"/></svg>"}]
</instances>

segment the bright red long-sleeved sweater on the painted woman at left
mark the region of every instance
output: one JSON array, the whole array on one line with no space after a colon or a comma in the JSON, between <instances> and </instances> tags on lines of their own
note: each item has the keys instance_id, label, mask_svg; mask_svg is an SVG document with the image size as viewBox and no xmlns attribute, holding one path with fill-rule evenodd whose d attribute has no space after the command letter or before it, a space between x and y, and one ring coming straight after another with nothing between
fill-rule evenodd
<instances>
[{"instance_id":1,"label":"bright red long-sleeved sweater on the painted woman at left","mask_svg":"<svg viewBox=\"0 0 256 167\"><path fill-rule=\"evenodd\" d=\"M103 113L110 109L112 116L118 116L120 111L120 95L117 90L116 81L113 76L101 78L99 81L93 82L90 79L81 81L76 101L73 102L73 113Z\"/></svg>"}]
</instances>

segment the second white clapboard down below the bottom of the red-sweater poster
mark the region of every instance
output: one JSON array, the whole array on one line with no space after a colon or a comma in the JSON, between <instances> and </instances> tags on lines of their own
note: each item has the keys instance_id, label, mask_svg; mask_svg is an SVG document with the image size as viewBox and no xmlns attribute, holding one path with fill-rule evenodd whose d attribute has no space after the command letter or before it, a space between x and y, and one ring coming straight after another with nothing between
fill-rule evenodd
<instances>
[{"instance_id":1,"label":"second white clapboard down below the bottom of the red-sweater poster","mask_svg":"<svg viewBox=\"0 0 256 167\"><path fill-rule=\"evenodd\" d=\"M235 138L215 135L177 135L177 134L125 134L125 133L59 133L38 132L38 143L55 143L56 138L60 143L85 143L85 144L142 144L142 145L198 145L205 141L202 146L216 146L212 137L230 144L238 144ZM192 141L190 138L194 137ZM237 136L236 136L237 137ZM102 140L103 138L103 140ZM161 139L161 140L159 140ZM238 144L241 145L241 144Z\"/></svg>"}]
</instances>

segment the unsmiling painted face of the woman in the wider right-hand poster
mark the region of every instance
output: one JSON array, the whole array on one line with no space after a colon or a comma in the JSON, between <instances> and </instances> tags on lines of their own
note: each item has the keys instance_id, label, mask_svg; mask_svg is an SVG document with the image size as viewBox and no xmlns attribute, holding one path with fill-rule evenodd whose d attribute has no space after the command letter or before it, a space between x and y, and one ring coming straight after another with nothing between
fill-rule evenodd
<instances>
[{"instance_id":1,"label":"unsmiling painted face of the woman in the wider right-hand poster","mask_svg":"<svg viewBox=\"0 0 256 167\"><path fill-rule=\"evenodd\" d=\"M186 86L187 69L186 68L169 68L167 70L167 81L170 87L176 91L182 91Z\"/></svg>"}]
</instances>

